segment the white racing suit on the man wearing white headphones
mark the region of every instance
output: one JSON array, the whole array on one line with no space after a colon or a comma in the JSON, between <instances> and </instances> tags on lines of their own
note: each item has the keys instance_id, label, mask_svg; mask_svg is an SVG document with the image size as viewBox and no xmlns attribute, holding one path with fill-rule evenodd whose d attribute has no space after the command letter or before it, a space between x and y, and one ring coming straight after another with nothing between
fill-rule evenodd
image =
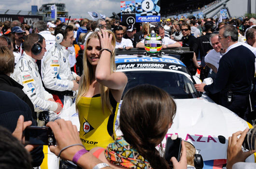
<instances>
[{"instance_id":1,"label":"white racing suit on the man wearing white headphones","mask_svg":"<svg viewBox=\"0 0 256 169\"><path fill-rule=\"evenodd\" d=\"M73 88L73 80L78 76L71 72L69 55L75 55L66 47L55 43L46 53L43 60L43 83L48 89L55 91L67 91ZM71 106L73 100L70 96L64 96L63 109Z\"/></svg>"}]
</instances>

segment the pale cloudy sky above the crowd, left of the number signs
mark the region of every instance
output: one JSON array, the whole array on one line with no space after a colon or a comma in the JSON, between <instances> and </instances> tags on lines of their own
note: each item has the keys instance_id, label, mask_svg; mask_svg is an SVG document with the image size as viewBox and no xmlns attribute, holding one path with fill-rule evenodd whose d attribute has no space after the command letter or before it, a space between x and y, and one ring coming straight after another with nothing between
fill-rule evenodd
<instances>
[{"instance_id":1,"label":"pale cloudy sky above the crowd, left of the number signs","mask_svg":"<svg viewBox=\"0 0 256 169\"><path fill-rule=\"evenodd\" d=\"M107 17L112 13L120 12L121 0L1 0L0 9L10 9L16 11L31 11L31 5L37 5L38 9L45 3L65 3L66 9L69 10L71 18L88 18L92 19L87 12L98 12L105 14ZM9 13L7 13L9 14Z\"/></svg>"}]
</instances>

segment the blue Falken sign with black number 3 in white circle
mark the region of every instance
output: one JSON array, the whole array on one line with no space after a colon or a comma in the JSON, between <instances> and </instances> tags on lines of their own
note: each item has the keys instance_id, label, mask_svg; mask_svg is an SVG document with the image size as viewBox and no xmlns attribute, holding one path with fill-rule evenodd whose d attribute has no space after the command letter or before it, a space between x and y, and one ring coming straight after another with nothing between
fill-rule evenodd
<instances>
[{"instance_id":1,"label":"blue Falken sign with black number 3 in white circle","mask_svg":"<svg viewBox=\"0 0 256 169\"><path fill-rule=\"evenodd\" d=\"M160 0L136 0L136 22L160 22Z\"/></svg>"}]
</instances>

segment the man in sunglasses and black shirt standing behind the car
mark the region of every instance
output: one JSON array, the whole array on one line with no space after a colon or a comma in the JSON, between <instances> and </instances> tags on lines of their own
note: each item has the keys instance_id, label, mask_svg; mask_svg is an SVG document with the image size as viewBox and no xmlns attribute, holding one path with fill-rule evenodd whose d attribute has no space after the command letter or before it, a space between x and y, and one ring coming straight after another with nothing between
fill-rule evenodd
<instances>
[{"instance_id":1,"label":"man in sunglasses and black shirt standing behind the car","mask_svg":"<svg viewBox=\"0 0 256 169\"><path fill-rule=\"evenodd\" d=\"M183 44L182 47L191 47L194 48L194 43L196 38L191 35L191 28L190 25L187 23L183 23L181 26L181 33L183 34L183 37L181 38ZM193 63L193 58L182 58L182 62L186 65L187 69L191 73L191 75L195 75L197 72L197 68Z\"/></svg>"}]
</instances>

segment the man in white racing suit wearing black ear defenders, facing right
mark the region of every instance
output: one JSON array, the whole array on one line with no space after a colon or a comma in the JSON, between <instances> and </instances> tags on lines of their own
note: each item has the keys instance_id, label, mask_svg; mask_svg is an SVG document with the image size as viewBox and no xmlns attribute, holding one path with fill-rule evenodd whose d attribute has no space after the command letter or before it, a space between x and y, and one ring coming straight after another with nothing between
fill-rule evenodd
<instances>
[{"instance_id":1,"label":"man in white racing suit wearing black ear defenders, facing right","mask_svg":"<svg viewBox=\"0 0 256 169\"><path fill-rule=\"evenodd\" d=\"M40 119L40 112L53 111L58 113L62 110L61 104L56 103L53 96L43 88L43 83L38 72L36 60L43 58L45 40L42 35L29 34L24 41L24 53L18 63L15 65L12 78L23 85L23 91L34 105L34 110L39 118L39 126L43 126L47 120Z\"/></svg>"}]
</instances>

